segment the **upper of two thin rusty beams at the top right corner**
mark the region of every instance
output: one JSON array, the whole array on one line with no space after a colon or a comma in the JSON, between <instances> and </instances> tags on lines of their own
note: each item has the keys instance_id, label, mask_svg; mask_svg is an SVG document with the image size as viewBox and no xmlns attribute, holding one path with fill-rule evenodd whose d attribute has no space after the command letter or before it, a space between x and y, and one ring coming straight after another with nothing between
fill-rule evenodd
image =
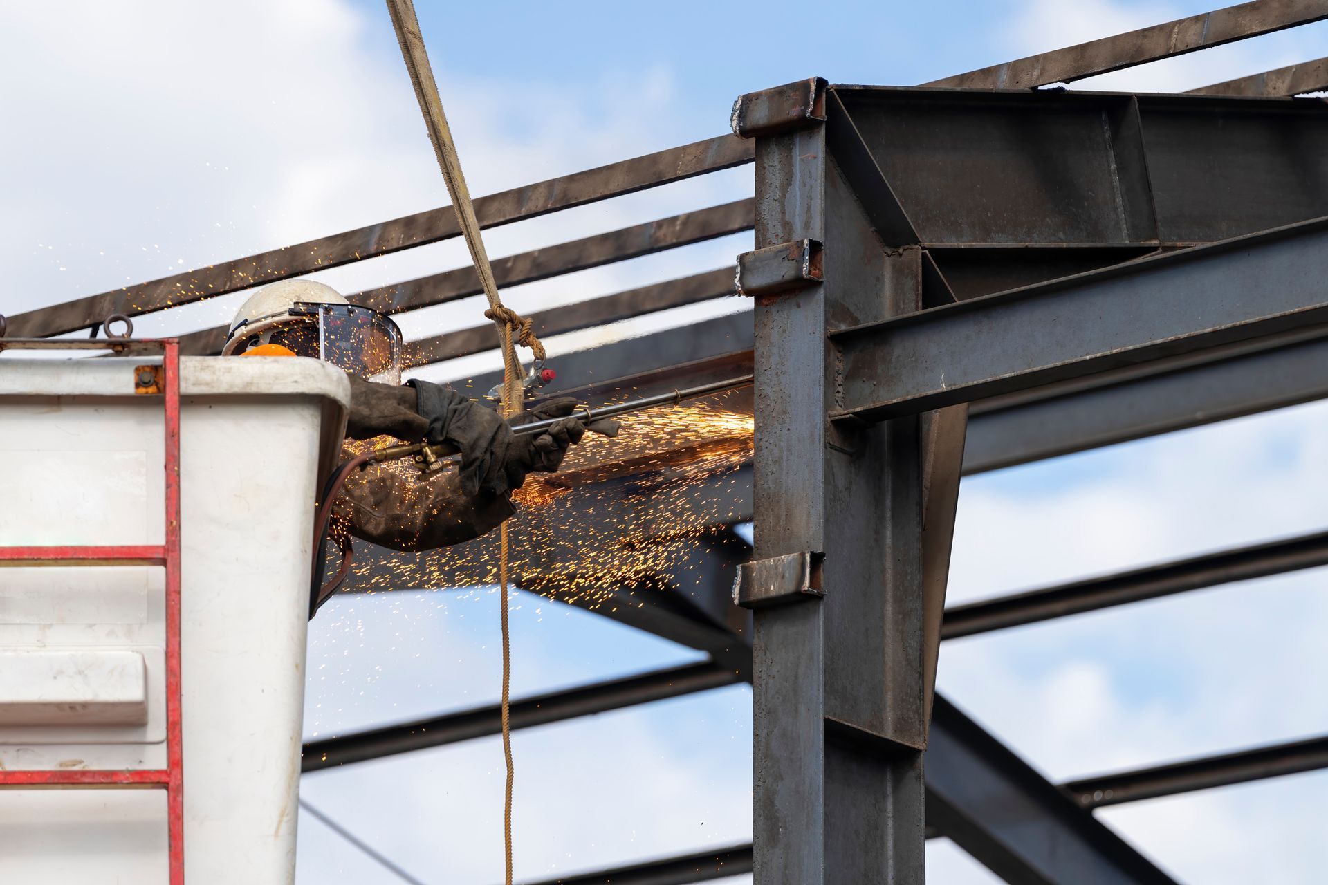
<instances>
[{"instance_id":1,"label":"upper of two thin rusty beams at the top right corner","mask_svg":"<svg viewBox=\"0 0 1328 885\"><path fill-rule=\"evenodd\" d=\"M928 86L965 89L1031 89L1105 74L1159 58L1183 56L1284 28L1328 19L1323 0L1255 0L1166 24L1081 42L1007 61L991 68L934 80Z\"/></svg>"}]
</instances>

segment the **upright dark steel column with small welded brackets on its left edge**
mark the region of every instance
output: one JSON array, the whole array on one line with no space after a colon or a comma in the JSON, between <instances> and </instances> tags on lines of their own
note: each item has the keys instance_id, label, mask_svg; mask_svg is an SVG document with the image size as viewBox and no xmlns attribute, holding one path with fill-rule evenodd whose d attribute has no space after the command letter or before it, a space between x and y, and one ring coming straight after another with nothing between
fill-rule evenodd
<instances>
[{"instance_id":1,"label":"upright dark steel column with small welded brackets on its left edge","mask_svg":"<svg viewBox=\"0 0 1328 885\"><path fill-rule=\"evenodd\" d=\"M923 881L919 418L833 427L826 330L918 308L826 147L826 88L744 96L757 138L754 872L758 885ZM823 244L823 248L822 248ZM764 247L764 248L762 248ZM930 687L930 686L928 686Z\"/></svg>"}]
</instances>

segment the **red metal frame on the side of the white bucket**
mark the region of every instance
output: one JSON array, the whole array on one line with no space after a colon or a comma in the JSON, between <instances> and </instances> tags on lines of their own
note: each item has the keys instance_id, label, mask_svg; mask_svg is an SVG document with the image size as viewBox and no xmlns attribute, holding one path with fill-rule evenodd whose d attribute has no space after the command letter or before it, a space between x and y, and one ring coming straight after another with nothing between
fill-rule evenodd
<instances>
[{"instance_id":1,"label":"red metal frame on the side of the white bucket","mask_svg":"<svg viewBox=\"0 0 1328 885\"><path fill-rule=\"evenodd\" d=\"M165 405L166 531L161 545L0 547L4 565L161 565L166 569L166 767L149 770L0 771L3 787L147 787L166 789L170 885L185 882L185 783L179 665L179 342L161 340L4 340L0 349L112 350L162 354Z\"/></svg>"}]
</instances>

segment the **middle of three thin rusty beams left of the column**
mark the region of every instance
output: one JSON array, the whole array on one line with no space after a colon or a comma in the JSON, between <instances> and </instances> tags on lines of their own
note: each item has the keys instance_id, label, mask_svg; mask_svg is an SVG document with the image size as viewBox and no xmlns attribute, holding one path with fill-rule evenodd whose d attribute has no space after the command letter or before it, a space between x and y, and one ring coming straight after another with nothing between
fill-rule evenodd
<instances>
[{"instance_id":1,"label":"middle of three thin rusty beams left of the column","mask_svg":"<svg viewBox=\"0 0 1328 885\"><path fill-rule=\"evenodd\" d=\"M494 279L503 288L522 285L729 234L740 234L752 230L753 211L750 199L734 200L697 212L684 212L607 234L509 255L491 263ZM733 276L732 272L729 276ZM730 280L729 289L732 291L732 288ZM474 267L466 265L393 285L355 292L347 297L353 304L372 306L384 313L401 313L479 295L482 291ZM493 325L490 324L487 328L491 329ZM537 326L537 330L540 334L552 334L542 325ZM181 349L185 353L212 354L220 352L224 341L226 326L215 326L183 336ZM432 341L422 342L422 346L428 349L432 346Z\"/></svg>"}]
</instances>

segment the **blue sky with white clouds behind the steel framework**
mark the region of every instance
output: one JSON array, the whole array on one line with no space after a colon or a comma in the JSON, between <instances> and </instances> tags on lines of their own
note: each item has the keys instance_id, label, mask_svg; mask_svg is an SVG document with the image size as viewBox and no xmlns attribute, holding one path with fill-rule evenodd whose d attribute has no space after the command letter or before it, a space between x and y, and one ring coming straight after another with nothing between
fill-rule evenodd
<instances>
[{"instance_id":1,"label":"blue sky with white clouds behind the steel framework","mask_svg":"<svg viewBox=\"0 0 1328 885\"><path fill-rule=\"evenodd\" d=\"M475 194L725 131L744 92L819 74L916 84L1201 12L1125 0L950 4L420 3ZM448 202L377 3L33 4L0 12L7 199L0 310L50 304ZM1316 25L1122 72L1096 88L1175 90L1317 58ZM23 133L23 138L15 138ZM750 194L734 170L501 228L491 255ZM725 238L506 293L555 305L724 267ZM458 243L319 275L343 287L465 263ZM224 322L235 299L145 320ZM737 304L716 310L737 309ZM463 301L412 336L473 325ZM639 333L688 312L627 324ZM566 350L594 336L563 336ZM487 360L487 362L486 362ZM432 370L465 374L478 358ZM967 601L1328 524L1319 405L973 478L951 596ZM947 644L940 683L1050 778L1328 731L1323 571L1251 581ZM315 620L307 732L498 697L490 590L335 601ZM519 697L695 659L598 616L521 596ZM521 732L518 878L742 841L750 835L750 695L733 687ZM433 884L501 878L497 740L307 776L303 795ZM1101 819L1191 882L1316 882L1320 793L1303 775L1109 809ZM993 881L944 841L935 881ZM301 821L301 884L397 881Z\"/></svg>"}]
</instances>

